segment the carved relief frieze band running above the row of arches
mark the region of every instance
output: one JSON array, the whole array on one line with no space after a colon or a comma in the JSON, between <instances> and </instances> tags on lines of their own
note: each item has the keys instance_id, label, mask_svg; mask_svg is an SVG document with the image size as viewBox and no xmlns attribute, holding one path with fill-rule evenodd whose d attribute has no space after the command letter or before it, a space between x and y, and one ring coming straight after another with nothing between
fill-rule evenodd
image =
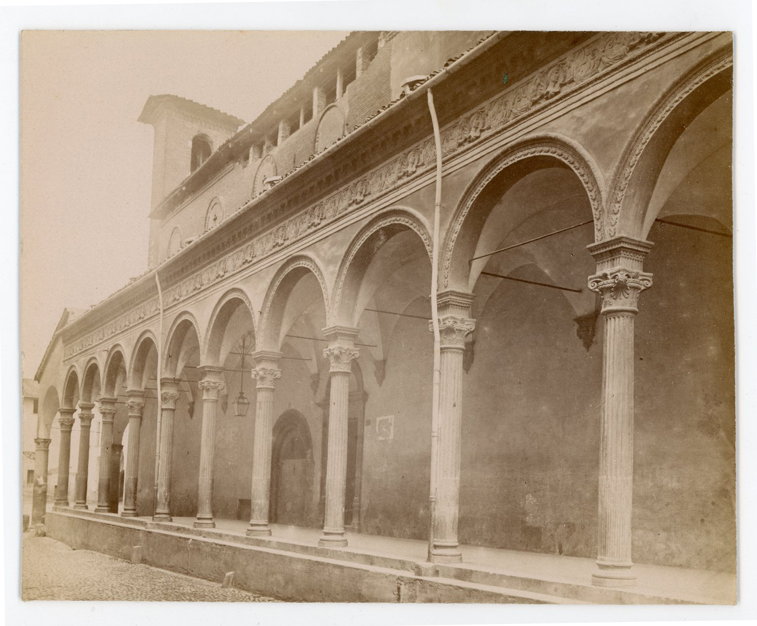
<instances>
[{"instance_id":1,"label":"carved relief frieze band running above the row of arches","mask_svg":"<svg viewBox=\"0 0 757 626\"><path fill-rule=\"evenodd\" d=\"M585 86L590 80L598 79L603 73L609 73L612 67L616 67L632 55L637 55L641 50L651 48L656 42L661 45L659 40L665 34L605 33L592 39L583 48L570 52L531 76L514 83L501 95L444 128L441 132L443 156L449 157L506 127L513 126L558 96L565 96ZM348 210L391 192L398 185L431 170L435 167L435 161L433 139L419 142L388 163L344 185L325 200L319 201L227 254L226 257L170 286L164 291L164 307L176 304L242 267L273 254L279 248L309 235L323 224L338 219ZM73 357L157 312L157 297L152 297L139 307L67 345L64 348L64 359Z\"/></svg>"}]
</instances>

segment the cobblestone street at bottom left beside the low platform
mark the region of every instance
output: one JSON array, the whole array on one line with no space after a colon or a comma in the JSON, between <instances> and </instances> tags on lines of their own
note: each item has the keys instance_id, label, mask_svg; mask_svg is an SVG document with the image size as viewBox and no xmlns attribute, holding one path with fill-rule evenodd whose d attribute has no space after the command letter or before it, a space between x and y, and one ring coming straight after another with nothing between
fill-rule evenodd
<instances>
[{"instance_id":1,"label":"cobblestone street at bottom left beside the low platform","mask_svg":"<svg viewBox=\"0 0 757 626\"><path fill-rule=\"evenodd\" d=\"M49 537L22 541L23 600L165 600L173 602L277 602L149 565L90 550L72 550Z\"/></svg>"}]
</instances>

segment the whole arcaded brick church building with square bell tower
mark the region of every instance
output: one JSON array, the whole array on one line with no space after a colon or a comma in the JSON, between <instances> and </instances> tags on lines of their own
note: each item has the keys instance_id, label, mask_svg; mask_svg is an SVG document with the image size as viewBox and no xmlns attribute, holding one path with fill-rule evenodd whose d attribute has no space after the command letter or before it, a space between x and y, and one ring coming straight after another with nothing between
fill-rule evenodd
<instances>
[{"instance_id":1,"label":"whole arcaded brick church building with square bell tower","mask_svg":"<svg viewBox=\"0 0 757 626\"><path fill-rule=\"evenodd\" d=\"M732 63L352 33L248 124L151 96L148 270L36 375L55 503L735 571Z\"/></svg>"}]
</instances>

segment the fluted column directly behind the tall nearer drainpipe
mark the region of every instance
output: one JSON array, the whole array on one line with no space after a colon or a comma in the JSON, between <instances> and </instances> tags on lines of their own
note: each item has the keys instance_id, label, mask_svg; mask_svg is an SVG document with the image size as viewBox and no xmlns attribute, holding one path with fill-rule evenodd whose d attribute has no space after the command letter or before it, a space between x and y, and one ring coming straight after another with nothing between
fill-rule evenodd
<instances>
[{"instance_id":1,"label":"fluted column directly behind the tall nearer drainpipe","mask_svg":"<svg viewBox=\"0 0 757 626\"><path fill-rule=\"evenodd\" d=\"M429 559L435 563L455 563L463 560L457 543L460 431L463 422L463 352L466 349L466 337L475 329L475 320L469 317L472 294L444 291L438 294L437 300L441 377L436 493L431 519ZM431 459L431 472L434 471L434 460Z\"/></svg>"}]
</instances>

